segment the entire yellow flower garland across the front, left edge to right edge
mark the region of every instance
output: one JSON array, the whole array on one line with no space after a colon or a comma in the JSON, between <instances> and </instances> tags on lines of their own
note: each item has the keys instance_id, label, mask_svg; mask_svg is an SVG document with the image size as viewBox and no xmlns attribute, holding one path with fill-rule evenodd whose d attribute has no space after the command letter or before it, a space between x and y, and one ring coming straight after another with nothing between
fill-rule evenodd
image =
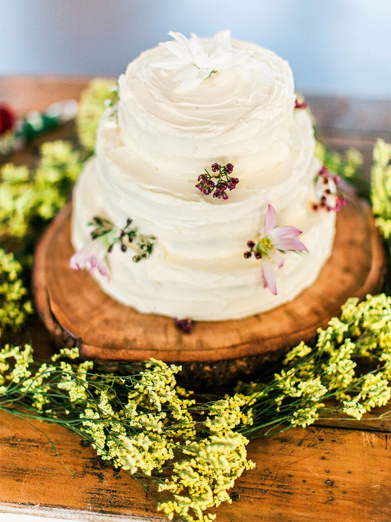
<instances>
[{"instance_id":1,"label":"entire yellow flower garland across the front, left edge to right edge","mask_svg":"<svg viewBox=\"0 0 391 522\"><path fill-rule=\"evenodd\" d=\"M305 428L326 412L361 419L387 404L390 341L391 298L349 299L341 316L318 330L316 345L292 349L273 379L201 403L177 386L176 365L151 359L121 376L77 361L72 348L36 366L30 346L7 345L0 351L0 408L17 398L67 425L114 467L151 480L169 519L207 522L214 518L207 510L230 502L229 489L254 466L249 434ZM357 373L355 358L362 356L377 361L373 372Z\"/></svg>"}]
</instances>

